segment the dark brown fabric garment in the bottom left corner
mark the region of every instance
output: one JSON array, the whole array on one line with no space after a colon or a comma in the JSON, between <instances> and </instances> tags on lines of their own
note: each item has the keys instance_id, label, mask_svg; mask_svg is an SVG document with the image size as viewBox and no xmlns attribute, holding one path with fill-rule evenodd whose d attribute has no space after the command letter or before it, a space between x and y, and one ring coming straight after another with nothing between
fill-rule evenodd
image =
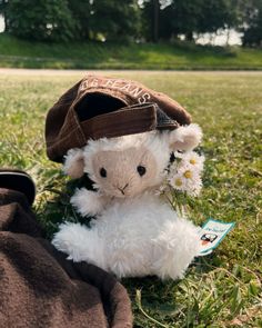
<instances>
[{"instance_id":1,"label":"dark brown fabric garment in the bottom left corner","mask_svg":"<svg viewBox=\"0 0 262 328\"><path fill-rule=\"evenodd\" d=\"M130 300L111 275L48 241L24 196L0 189L0 327L128 328Z\"/></svg>"}]
</instances>

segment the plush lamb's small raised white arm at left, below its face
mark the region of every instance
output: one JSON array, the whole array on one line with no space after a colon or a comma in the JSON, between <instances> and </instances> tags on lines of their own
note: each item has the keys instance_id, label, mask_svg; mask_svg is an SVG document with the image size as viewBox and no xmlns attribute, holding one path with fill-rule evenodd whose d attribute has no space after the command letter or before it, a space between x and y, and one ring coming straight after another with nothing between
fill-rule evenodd
<instances>
[{"instance_id":1,"label":"plush lamb's small raised white arm at left, below its face","mask_svg":"<svg viewBox=\"0 0 262 328\"><path fill-rule=\"evenodd\" d=\"M78 189L70 202L82 217L95 216L103 209L101 196L85 188Z\"/></svg>"}]
</instances>

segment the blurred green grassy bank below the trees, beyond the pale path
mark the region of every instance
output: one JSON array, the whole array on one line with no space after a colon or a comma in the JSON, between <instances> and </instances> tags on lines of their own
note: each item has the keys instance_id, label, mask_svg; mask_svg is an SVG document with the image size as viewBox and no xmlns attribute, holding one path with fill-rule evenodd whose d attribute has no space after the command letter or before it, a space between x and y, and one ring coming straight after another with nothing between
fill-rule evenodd
<instances>
[{"instance_id":1,"label":"blurred green grassy bank below the trees, beyond the pale path","mask_svg":"<svg viewBox=\"0 0 262 328\"><path fill-rule=\"evenodd\" d=\"M0 33L0 67L56 69L261 70L262 50L238 47L21 41Z\"/></svg>"}]
</instances>

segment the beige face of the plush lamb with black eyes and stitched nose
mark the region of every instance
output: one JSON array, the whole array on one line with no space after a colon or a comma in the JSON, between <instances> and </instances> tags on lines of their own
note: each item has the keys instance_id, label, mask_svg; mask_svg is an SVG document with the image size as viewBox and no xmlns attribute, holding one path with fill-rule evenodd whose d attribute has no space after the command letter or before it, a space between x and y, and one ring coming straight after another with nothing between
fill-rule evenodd
<instances>
[{"instance_id":1,"label":"beige face of the plush lamb with black eyes and stitched nose","mask_svg":"<svg viewBox=\"0 0 262 328\"><path fill-rule=\"evenodd\" d=\"M159 176L155 157L143 143L93 153L84 151L85 170L100 191L113 197L133 197L154 183Z\"/></svg>"}]
</instances>

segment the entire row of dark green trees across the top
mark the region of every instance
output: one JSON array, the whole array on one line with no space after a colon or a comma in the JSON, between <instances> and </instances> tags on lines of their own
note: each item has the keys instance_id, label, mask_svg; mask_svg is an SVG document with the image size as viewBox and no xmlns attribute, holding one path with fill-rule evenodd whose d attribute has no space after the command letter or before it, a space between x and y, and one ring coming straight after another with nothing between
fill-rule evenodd
<instances>
[{"instance_id":1,"label":"entire row of dark green trees across the top","mask_svg":"<svg viewBox=\"0 0 262 328\"><path fill-rule=\"evenodd\" d=\"M262 40L262 0L0 0L6 32L28 40L171 41L219 30Z\"/></svg>"}]
</instances>

